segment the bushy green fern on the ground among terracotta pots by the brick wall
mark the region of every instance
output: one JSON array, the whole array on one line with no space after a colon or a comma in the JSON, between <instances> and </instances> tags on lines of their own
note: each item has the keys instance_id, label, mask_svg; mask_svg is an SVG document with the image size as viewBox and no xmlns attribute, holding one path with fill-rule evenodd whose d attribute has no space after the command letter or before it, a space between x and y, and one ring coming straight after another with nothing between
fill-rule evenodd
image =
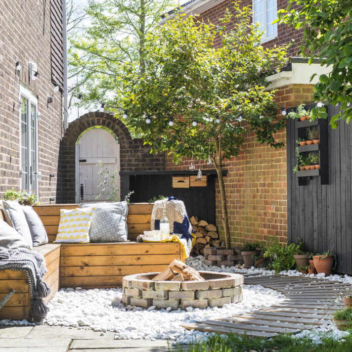
<instances>
[{"instance_id":1,"label":"bushy green fern on the ground among terracotta pots by the brick wall","mask_svg":"<svg viewBox=\"0 0 352 352\"><path fill-rule=\"evenodd\" d=\"M289 245L283 245L279 243L279 240L275 236L269 237L265 246L266 251L263 256L270 258L272 267L275 270L275 274L280 273L282 270L290 270L295 266L294 254L297 254L301 247L301 244L290 243Z\"/></svg>"}]
</instances>

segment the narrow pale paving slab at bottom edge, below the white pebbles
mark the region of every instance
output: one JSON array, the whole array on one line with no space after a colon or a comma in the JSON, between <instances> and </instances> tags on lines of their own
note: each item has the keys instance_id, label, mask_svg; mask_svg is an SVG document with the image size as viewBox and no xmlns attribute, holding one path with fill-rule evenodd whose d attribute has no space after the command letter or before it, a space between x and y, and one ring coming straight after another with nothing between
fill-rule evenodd
<instances>
[{"instance_id":1,"label":"narrow pale paving slab at bottom edge, below the white pebbles","mask_svg":"<svg viewBox=\"0 0 352 352\"><path fill-rule=\"evenodd\" d=\"M91 350L104 349L104 348L155 348L155 347L166 347L171 346L171 343L167 344L167 340L73 340L71 343L71 349L87 349ZM93 352L93 351L92 351ZM95 352L95 351L94 351ZM131 352L131 350L130 350Z\"/></svg>"}]
</instances>

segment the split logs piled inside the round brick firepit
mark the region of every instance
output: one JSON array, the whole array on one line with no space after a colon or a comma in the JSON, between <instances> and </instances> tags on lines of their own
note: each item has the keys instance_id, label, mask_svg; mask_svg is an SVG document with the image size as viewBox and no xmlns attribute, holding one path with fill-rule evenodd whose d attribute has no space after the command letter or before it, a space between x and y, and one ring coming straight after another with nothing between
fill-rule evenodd
<instances>
[{"instance_id":1,"label":"split logs piled inside the round brick firepit","mask_svg":"<svg viewBox=\"0 0 352 352\"><path fill-rule=\"evenodd\" d=\"M199 273L179 259L173 259L169 266L155 276L155 281L204 281Z\"/></svg>"}]
</instances>

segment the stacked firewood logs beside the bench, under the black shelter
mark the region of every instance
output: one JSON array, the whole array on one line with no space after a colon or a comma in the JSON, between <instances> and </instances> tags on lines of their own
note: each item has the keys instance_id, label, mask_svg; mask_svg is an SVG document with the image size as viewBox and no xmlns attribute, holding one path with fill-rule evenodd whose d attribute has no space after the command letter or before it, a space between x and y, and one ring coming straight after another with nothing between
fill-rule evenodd
<instances>
[{"instance_id":1,"label":"stacked firewood logs beside the bench, under the black shelter","mask_svg":"<svg viewBox=\"0 0 352 352\"><path fill-rule=\"evenodd\" d=\"M208 224L205 220L199 220L197 216L192 216L190 222L197 236L192 255L204 254L204 248L207 247L225 246L225 243L218 239L219 235L215 225Z\"/></svg>"}]
</instances>

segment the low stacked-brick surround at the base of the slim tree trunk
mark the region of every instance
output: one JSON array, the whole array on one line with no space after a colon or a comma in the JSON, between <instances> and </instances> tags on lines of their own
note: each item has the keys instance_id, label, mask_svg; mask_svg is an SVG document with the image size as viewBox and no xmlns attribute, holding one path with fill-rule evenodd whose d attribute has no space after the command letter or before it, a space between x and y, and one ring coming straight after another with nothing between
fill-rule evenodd
<instances>
[{"instance_id":1,"label":"low stacked-brick surround at the base of the slim tree trunk","mask_svg":"<svg viewBox=\"0 0 352 352\"><path fill-rule=\"evenodd\" d=\"M233 267L243 264L241 247L226 249L225 247L204 248L204 264L208 266Z\"/></svg>"}]
</instances>

